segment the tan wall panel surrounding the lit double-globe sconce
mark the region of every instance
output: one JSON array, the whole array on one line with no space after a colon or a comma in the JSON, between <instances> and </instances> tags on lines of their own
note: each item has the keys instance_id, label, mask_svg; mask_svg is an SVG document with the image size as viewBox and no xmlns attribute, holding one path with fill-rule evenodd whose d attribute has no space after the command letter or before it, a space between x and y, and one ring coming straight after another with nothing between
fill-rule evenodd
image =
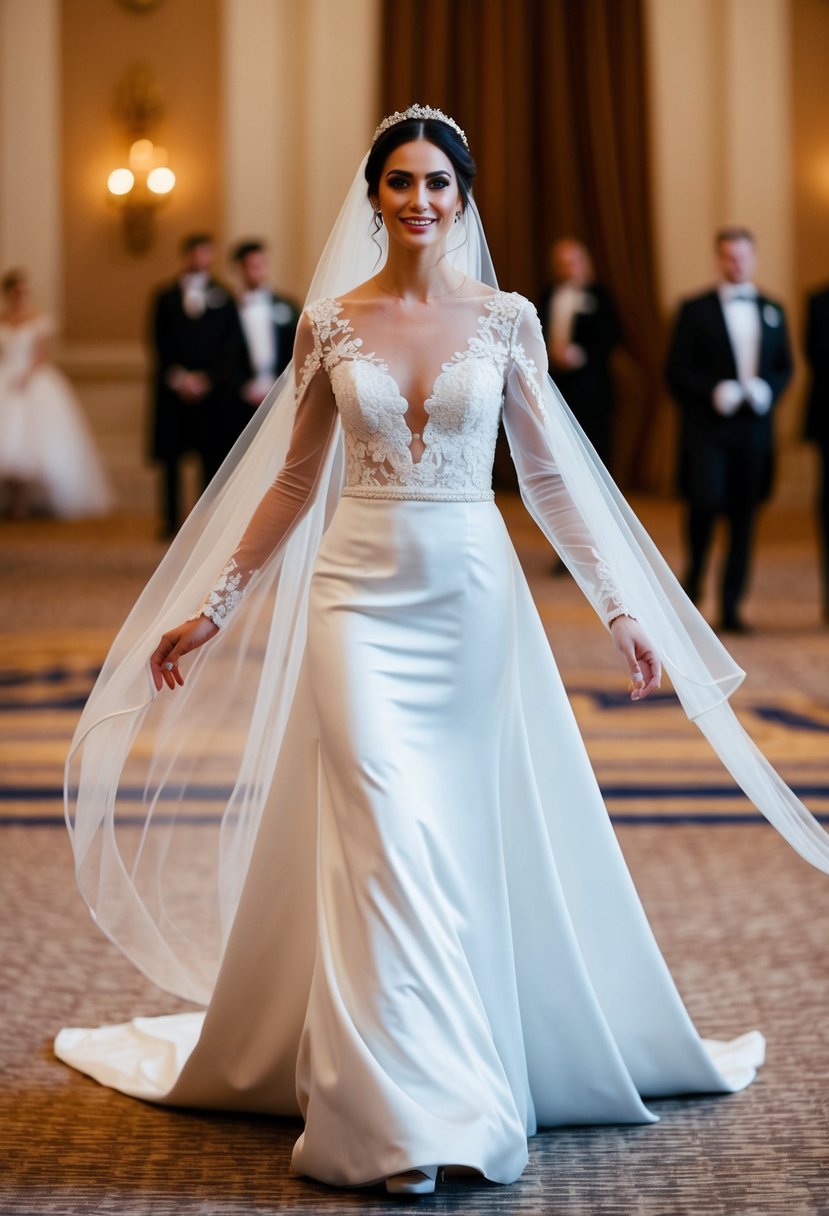
<instances>
[{"instance_id":1,"label":"tan wall panel surrounding the lit double-globe sconce","mask_svg":"<svg viewBox=\"0 0 829 1216\"><path fill-rule=\"evenodd\" d=\"M113 103L134 63L150 67L164 91L156 142L177 178L143 257L124 247L106 190L129 147ZM63 0L62 74L64 336L135 340L152 286L176 266L181 235L221 227L219 2L167 0L142 13L113 0Z\"/></svg>"}]
</instances>

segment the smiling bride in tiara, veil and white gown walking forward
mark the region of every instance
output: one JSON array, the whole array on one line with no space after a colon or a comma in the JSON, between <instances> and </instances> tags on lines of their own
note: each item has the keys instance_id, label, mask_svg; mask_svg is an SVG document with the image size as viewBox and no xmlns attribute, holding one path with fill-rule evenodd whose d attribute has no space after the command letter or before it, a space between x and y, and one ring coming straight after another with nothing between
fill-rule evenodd
<instances>
[{"instance_id":1,"label":"smiling bride in tiara, veil and white gown walking forward","mask_svg":"<svg viewBox=\"0 0 829 1216\"><path fill-rule=\"evenodd\" d=\"M154 1102L300 1113L298 1172L402 1193L441 1166L511 1182L538 1126L650 1122L644 1097L741 1088L763 1054L757 1032L699 1037L654 942L492 501L501 417L632 699L661 655L829 869L731 711L743 672L557 395L531 305L497 289L474 168L440 111L380 124L293 365L115 641L67 766L96 922L201 1008L63 1030L58 1055Z\"/></svg>"}]
</instances>

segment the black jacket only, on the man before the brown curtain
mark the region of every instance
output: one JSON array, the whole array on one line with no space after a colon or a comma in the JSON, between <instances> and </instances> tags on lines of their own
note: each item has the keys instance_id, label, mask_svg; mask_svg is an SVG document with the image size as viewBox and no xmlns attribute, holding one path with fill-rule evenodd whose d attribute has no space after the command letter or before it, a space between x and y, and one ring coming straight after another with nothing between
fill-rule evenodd
<instances>
[{"instance_id":1,"label":"black jacket only, on the man before the brown curtain","mask_svg":"<svg viewBox=\"0 0 829 1216\"><path fill-rule=\"evenodd\" d=\"M556 286L547 288L538 305L538 316L549 342L549 304ZM573 319L571 342L585 351L587 360L582 367L571 371L552 367L549 375L576 416L582 410L610 412L613 409L613 379L610 355L619 342L619 319L610 293L600 283L588 283L582 291L583 309Z\"/></svg>"}]
</instances>

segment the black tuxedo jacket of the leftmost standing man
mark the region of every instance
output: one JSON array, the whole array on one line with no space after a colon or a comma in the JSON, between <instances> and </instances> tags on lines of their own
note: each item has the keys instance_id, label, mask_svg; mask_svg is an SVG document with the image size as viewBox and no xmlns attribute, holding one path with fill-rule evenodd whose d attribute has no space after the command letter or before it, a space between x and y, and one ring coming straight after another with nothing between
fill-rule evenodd
<instances>
[{"instance_id":1,"label":"black tuxedo jacket of the leftmost standing man","mask_svg":"<svg viewBox=\"0 0 829 1216\"><path fill-rule=\"evenodd\" d=\"M233 298L209 280L201 316L185 313L181 285L162 287L151 302L150 339L154 354L152 456L173 460L215 444L225 413L235 407L241 385L252 376L248 348ZM185 404L167 383L173 367L202 371L213 388L201 401Z\"/></svg>"}]
</instances>

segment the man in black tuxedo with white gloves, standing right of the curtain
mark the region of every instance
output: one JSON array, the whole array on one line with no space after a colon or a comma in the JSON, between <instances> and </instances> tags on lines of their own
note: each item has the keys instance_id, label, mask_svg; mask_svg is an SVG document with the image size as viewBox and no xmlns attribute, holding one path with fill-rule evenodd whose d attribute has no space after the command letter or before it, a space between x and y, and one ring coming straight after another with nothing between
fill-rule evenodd
<instances>
[{"instance_id":1,"label":"man in black tuxedo with white gloves, standing right of the curtain","mask_svg":"<svg viewBox=\"0 0 829 1216\"><path fill-rule=\"evenodd\" d=\"M757 508L772 486L774 405L791 377L785 314L754 286L748 229L717 232L720 283L678 313L666 377L681 410L679 483L688 501L684 587L697 602L717 518L729 542L721 627L749 632L739 614Z\"/></svg>"}]
</instances>

